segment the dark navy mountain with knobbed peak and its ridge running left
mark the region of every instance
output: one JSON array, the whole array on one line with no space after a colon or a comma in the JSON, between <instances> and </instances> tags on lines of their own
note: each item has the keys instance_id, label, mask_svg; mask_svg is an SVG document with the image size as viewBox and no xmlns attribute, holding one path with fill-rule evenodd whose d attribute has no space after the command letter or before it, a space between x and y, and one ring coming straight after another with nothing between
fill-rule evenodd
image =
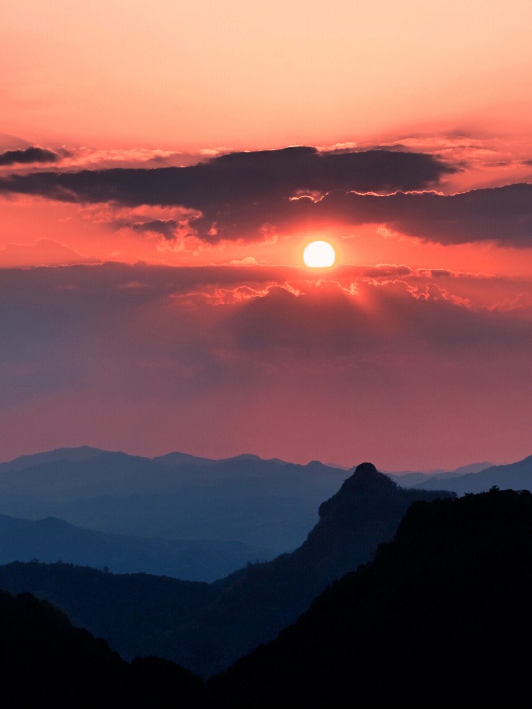
<instances>
[{"instance_id":1,"label":"dark navy mountain with knobbed peak and its ridge running left","mask_svg":"<svg viewBox=\"0 0 532 709\"><path fill-rule=\"evenodd\" d=\"M55 603L125 659L159 655L209 676L272 640L332 581L368 562L412 502L448 495L402 489L364 463L319 506L319 522L300 548L214 584L15 563L0 567L0 588Z\"/></svg>"}]
</instances>

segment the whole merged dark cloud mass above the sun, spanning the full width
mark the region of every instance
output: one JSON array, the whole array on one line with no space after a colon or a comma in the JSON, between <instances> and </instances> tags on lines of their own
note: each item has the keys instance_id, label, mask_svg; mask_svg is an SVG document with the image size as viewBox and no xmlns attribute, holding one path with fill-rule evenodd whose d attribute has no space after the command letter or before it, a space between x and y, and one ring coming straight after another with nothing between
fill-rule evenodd
<instances>
[{"instance_id":1,"label":"whole merged dark cloud mass above the sun, spanning the full width","mask_svg":"<svg viewBox=\"0 0 532 709\"><path fill-rule=\"evenodd\" d=\"M457 168L399 150L319 152L312 147L237 152L188 167L41 172L0 179L0 191L38 194L111 211L176 210L109 218L111 227L166 242L263 241L305 229L375 224L390 234L460 244L532 245L532 184L427 191Z\"/></svg>"}]
</instances>

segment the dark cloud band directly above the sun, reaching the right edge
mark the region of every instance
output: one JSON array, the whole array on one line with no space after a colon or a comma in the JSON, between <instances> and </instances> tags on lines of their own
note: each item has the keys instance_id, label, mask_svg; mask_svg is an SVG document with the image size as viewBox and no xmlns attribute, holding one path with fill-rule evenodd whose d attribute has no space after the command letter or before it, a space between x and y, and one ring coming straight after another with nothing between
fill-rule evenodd
<instances>
[{"instance_id":1,"label":"dark cloud band directly above the sun, reaching the right edge","mask_svg":"<svg viewBox=\"0 0 532 709\"><path fill-rule=\"evenodd\" d=\"M266 235L300 233L319 228L346 230L357 225L385 225L428 242L462 244L494 241L518 248L532 246L532 185L514 184L462 194L396 192L360 194L332 191L319 199L228 204L212 220L205 214L193 222L198 235L213 226L217 238L261 240Z\"/></svg>"}]
</instances>

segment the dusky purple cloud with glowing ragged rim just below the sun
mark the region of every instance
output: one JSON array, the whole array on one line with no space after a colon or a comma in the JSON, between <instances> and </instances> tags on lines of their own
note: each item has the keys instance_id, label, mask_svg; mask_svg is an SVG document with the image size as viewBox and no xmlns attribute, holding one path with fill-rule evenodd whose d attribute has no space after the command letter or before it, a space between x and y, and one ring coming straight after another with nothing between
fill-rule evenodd
<instances>
[{"instance_id":1,"label":"dusky purple cloud with glowing ragged rim just below the sun","mask_svg":"<svg viewBox=\"0 0 532 709\"><path fill-rule=\"evenodd\" d=\"M281 350L298 357L417 357L419 352L489 357L494 350L532 345L526 313L471 308L436 285L358 284L348 293L337 284L307 287L298 295L276 286L242 303L230 322L238 347Z\"/></svg>"}]
</instances>

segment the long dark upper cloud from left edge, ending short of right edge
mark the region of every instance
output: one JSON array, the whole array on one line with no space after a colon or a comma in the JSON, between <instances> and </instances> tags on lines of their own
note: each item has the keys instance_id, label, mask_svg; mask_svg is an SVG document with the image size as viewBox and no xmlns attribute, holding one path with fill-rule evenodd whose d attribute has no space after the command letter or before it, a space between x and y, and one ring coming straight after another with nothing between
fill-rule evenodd
<instances>
[{"instance_id":1,"label":"long dark upper cloud from left edge, ending short of right edge","mask_svg":"<svg viewBox=\"0 0 532 709\"><path fill-rule=\"evenodd\" d=\"M455 167L423 153L290 147L234 152L188 167L11 175L0 180L0 191L130 208L180 206L200 212L190 219L199 238L218 242L261 239L265 225L295 211L291 197L424 189L451 172Z\"/></svg>"}]
</instances>

